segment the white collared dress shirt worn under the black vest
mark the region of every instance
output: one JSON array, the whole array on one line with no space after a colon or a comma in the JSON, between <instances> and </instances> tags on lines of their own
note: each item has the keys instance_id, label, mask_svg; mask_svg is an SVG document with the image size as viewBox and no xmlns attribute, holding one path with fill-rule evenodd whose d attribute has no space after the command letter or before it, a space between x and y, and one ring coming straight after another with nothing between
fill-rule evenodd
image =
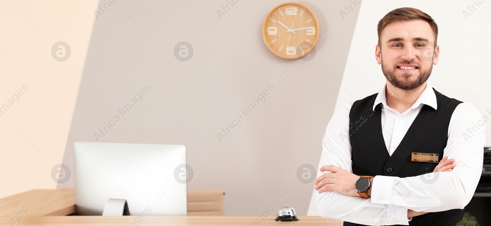
<instances>
[{"instance_id":1,"label":"white collared dress shirt worn under the black vest","mask_svg":"<svg viewBox=\"0 0 491 226\"><path fill-rule=\"evenodd\" d=\"M385 88L386 85L377 95L374 108L383 104L382 134L391 156L423 105L434 109L437 106L435 92L428 82L416 102L402 114L387 106ZM353 172L349 137L349 114L353 103L347 103L336 112L327 125L317 177L330 173L319 171L324 165ZM470 202L481 177L484 131L481 113L472 104L461 103L451 116L447 146L443 150L444 156L455 159L456 167L451 172L407 178L375 176L370 199L334 191L316 192L319 213L323 217L363 225L409 225L412 218L407 217L408 209L424 212L463 209Z\"/></svg>"}]
</instances>

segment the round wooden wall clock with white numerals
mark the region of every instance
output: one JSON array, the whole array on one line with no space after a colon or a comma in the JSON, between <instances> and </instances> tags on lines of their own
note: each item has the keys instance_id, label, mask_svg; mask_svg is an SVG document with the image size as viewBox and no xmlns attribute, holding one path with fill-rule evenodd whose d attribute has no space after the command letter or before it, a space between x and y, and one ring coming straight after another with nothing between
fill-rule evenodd
<instances>
[{"instance_id":1,"label":"round wooden wall clock with white numerals","mask_svg":"<svg viewBox=\"0 0 491 226\"><path fill-rule=\"evenodd\" d=\"M319 40L319 23L305 5L288 2L276 6L263 23L264 43L276 56L298 59Z\"/></svg>"}]
</instances>

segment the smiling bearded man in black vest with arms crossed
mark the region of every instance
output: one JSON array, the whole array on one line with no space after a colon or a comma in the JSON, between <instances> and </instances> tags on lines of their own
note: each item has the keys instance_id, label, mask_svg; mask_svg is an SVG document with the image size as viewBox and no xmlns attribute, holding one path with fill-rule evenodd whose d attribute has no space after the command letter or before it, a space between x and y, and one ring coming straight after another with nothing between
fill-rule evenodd
<instances>
[{"instance_id":1,"label":"smiling bearded man in black vest with arms crossed","mask_svg":"<svg viewBox=\"0 0 491 226\"><path fill-rule=\"evenodd\" d=\"M481 176L485 126L475 126L482 115L473 105L427 82L438 62L437 35L435 21L418 9L380 20L375 57L387 81L327 125L315 182L321 216L344 226L462 220Z\"/></svg>"}]
</instances>

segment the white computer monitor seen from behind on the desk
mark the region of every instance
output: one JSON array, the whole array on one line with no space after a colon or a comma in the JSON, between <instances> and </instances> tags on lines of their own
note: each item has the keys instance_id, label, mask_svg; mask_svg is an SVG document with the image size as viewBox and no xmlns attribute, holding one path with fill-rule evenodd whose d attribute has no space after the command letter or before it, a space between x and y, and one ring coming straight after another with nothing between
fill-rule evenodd
<instances>
[{"instance_id":1,"label":"white computer monitor seen from behind on the desk","mask_svg":"<svg viewBox=\"0 0 491 226\"><path fill-rule=\"evenodd\" d=\"M76 215L102 215L109 199L126 200L129 215L187 215L184 145L74 146Z\"/></svg>"}]
</instances>

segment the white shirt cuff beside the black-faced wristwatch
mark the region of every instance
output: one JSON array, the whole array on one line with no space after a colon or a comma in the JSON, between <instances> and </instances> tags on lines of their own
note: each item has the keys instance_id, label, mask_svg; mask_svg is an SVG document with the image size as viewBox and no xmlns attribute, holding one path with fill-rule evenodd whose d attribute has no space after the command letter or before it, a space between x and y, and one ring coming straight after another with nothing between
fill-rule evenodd
<instances>
[{"instance_id":1,"label":"white shirt cuff beside the black-faced wristwatch","mask_svg":"<svg viewBox=\"0 0 491 226\"><path fill-rule=\"evenodd\" d=\"M391 204L392 185L395 180L396 177L375 176L372 181L372 203Z\"/></svg>"}]
</instances>

